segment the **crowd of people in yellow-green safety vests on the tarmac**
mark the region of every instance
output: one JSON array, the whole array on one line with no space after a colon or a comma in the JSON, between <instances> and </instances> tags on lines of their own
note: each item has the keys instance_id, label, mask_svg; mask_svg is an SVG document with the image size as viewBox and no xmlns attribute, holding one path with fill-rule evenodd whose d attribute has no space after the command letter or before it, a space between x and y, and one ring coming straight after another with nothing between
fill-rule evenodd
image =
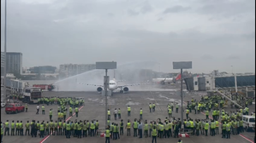
<instances>
[{"instance_id":1,"label":"crowd of people in yellow-green safety vests on the tarmac","mask_svg":"<svg viewBox=\"0 0 256 143\"><path fill-rule=\"evenodd\" d=\"M49 121L27 121L27 123L22 123L22 121L12 121L9 123L7 120L5 123L1 122L1 134L4 135L32 135L32 137L44 138L45 135L66 135L66 138L70 136L81 138L87 135L95 136L100 134L98 120L84 120L84 121L71 121L66 120L67 113L69 111L68 117L73 116L73 108L76 117L78 117L78 107L83 106L84 100L74 99L74 98L42 98L39 100L42 108L42 114L45 114L45 106L49 104L57 104L57 120L54 122L52 120L52 109L49 112ZM188 101L187 108L183 109L175 102L171 102L167 105L167 115L164 119L158 118L156 120L143 120L143 111L140 108L140 118L134 118L134 121L127 120L125 122L121 116L121 109L115 108L114 119L115 122L111 123L111 113L108 110L108 120L107 127L105 129L106 142L110 139L118 140L121 135L124 134L126 130L126 135L131 136L133 131L133 136L142 138L152 137L152 142L156 142L157 138L179 138L179 133L182 129L181 118L174 117L172 112L176 113L179 110L183 110L186 114L186 119L183 120L183 126L185 132L191 135L205 135L215 136L216 134L222 134L223 138L230 139L230 134L240 134L244 132L242 115L249 115L249 105L251 101L248 100L247 106L244 108L238 108L235 111L227 112L223 108L224 100L219 95L203 96L201 100L191 100ZM38 105L39 106L39 105ZM27 108L27 105L26 105ZM26 109L27 111L27 109ZM155 112L155 103L149 104L149 112ZM211 112L211 115L210 115ZM39 110L37 111L39 113ZM128 117L131 116L131 106L127 107ZM205 118L192 118L191 114L205 114ZM255 117L255 112L252 112L252 116ZM113 118L112 118L113 119ZM120 123L116 123L116 120L120 120ZM113 120L112 120L113 121ZM2 138L1 138L2 140Z\"/></svg>"}]
</instances>

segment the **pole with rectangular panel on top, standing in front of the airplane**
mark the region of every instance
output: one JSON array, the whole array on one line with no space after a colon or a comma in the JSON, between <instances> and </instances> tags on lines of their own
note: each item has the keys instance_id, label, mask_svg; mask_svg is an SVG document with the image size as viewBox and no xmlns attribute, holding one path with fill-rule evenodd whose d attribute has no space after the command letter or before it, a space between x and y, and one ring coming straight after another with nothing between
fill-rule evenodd
<instances>
[{"instance_id":1,"label":"pole with rectangular panel on top, standing in front of the airplane","mask_svg":"<svg viewBox=\"0 0 256 143\"><path fill-rule=\"evenodd\" d=\"M108 69L116 69L116 62L96 62L96 69L104 69L105 76L104 76L104 96L105 96L105 126L108 125L108 87L110 78L108 76Z\"/></svg>"}]
</instances>

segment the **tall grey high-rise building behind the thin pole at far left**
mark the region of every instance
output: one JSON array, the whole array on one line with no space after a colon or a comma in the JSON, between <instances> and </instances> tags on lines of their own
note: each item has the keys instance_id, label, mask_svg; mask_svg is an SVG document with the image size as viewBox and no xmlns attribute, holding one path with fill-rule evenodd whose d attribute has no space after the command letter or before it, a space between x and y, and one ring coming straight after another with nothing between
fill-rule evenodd
<instances>
[{"instance_id":1,"label":"tall grey high-rise building behind the thin pole at far left","mask_svg":"<svg viewBox=\"0 0 256 143\"><path fill-rule=\"evenodd\" d=\"M6 53L6 73L22 73L22 53Z\"/></svg>"}]
</instances>

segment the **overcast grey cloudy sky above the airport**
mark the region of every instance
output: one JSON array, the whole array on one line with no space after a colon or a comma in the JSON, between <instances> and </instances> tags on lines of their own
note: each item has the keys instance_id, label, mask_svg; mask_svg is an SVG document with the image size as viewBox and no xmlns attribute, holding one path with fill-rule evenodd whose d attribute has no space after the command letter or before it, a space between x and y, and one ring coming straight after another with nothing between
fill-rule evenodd
<instances>
[{"instance_id":1,"label":"overcast grey cloudy sky above the airport","mask_svg":"<svg viewBox=\"0 0 256 143\"><path fill-rule=\"evenodd\" d=\"M160 72L178 72L173 61L255 72L255 1L8 0L7 52L21 52L23 67L150 60Z\"/></svg>"}]
</instances>

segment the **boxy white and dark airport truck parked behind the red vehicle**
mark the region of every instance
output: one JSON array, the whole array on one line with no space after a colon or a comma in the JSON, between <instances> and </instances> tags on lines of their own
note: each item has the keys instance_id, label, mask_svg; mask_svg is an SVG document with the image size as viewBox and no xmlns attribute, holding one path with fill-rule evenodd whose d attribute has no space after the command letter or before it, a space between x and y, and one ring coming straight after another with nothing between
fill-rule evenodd
<instances>
[{"instance_id":1,"label":"boxy white and dark airport truck parked behind the red vehicle","mask_svg":"<svg viewBox=\"0 0 256 143\"><path fill-rule=\"evenodd\" d=\"M23 89L23 102L29 104L39 103L39 99L42 97L42 89L39 87L27 87Z\"/></svg>"}]
</instances>

